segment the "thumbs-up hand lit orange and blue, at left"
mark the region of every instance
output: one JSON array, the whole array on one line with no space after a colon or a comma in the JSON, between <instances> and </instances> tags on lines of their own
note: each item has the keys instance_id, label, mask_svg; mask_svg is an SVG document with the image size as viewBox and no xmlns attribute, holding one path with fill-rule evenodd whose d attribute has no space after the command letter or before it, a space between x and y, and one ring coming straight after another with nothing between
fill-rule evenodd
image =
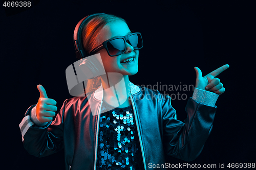
<instances>
[{"instance_id":1,"label":"thumbs-up hand lit orange and blue, at left","mask_svg":"<svg viewBox=\"0 0 256 170\"><path fill-rule=\"evenodd\" d=\"M41 122L51 122L57 111L57 102L53 99L48 99L46 90L42 85L37 85L40 92L40 98L36 105L36 117Z\"/></svg>"}]
</instances>

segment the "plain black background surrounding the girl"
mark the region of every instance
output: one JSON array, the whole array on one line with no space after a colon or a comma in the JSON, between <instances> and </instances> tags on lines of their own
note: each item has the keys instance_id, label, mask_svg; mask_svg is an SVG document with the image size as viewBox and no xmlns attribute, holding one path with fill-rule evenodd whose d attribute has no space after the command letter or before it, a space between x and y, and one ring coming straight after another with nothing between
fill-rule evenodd
<instances>
[{"instance_id":1,"label":"plain black background surrounding the girl","mask_svg":"<svg viewBox=\"0 0 256 170\"><path fill-rule=\"evenodd\" d=\"M57 101L59 109L72 98L65 70L76 61L73 31L80 19L99 12L124 18L130 29L142 34L139 72L130 77L134 84L195 85L194 66L205 76L229 64L218 76L226 91L216 103L214 128L201 155L189 163L255 162L252 1L31 2L31 8L0 7L1 153L6 158L2 165L8 169L63 169L63 151L45 158L30 156L23 148L18 125L29 106L38 101L38 84ZM187 97L193 94L191 90L179 92ZM172 105L183 121L186 100L173 100ZM168 158L167 162L185 161Z\"/></svg>"}]
</instances>

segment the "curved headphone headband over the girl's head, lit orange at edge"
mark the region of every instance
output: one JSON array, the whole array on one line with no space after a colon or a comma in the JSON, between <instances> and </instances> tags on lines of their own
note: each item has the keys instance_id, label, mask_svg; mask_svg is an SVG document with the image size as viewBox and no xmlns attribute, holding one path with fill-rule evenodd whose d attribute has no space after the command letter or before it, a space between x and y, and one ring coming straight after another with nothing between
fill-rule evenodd
<instances>
[{"instance_id":1,"label":"curved headphone headband over the girl's head, lit orange at edge","mask_svg":"<svg viewBox=\"0 0 256 170\"><path fill-rule=\"evenodd\" d=\"M84 28L84 25L86 25L92 18L98 15L102 15L104 13L97 13L88 15L84 18L82 18L76 25L75 31L74 31L74 46L76 51L76 58L79 60L81 58L87 57L86 51L82 47L82 29Z\"/></svg>"}]
</instances>

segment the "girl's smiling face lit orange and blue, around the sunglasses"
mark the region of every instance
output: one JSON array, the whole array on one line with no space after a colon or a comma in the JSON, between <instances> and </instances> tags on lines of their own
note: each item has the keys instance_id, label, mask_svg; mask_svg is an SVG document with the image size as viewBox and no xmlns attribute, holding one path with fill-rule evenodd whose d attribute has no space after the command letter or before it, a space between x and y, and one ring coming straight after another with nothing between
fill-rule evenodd
<instances>
[{"instance_id":1,"label":"girl's smiling face lit orange and blue, around the sunglasses","mask_svg":"<svg viewBox=\"0 0 256 170\"><path fill-rule=\"evenodd\" d=\"M108 39L131 34L131 30L122 20L117 20L105 25L99 32L97 39L99 44ZM133 46L126 42L126 51L119 55L110 57L103 48L99 51L105 72L119 72L122 75L135 75L138 72L139 50L134 50ZM121 63L124 59L134 57L131 63Z\"/></svg>"}]
</instances>

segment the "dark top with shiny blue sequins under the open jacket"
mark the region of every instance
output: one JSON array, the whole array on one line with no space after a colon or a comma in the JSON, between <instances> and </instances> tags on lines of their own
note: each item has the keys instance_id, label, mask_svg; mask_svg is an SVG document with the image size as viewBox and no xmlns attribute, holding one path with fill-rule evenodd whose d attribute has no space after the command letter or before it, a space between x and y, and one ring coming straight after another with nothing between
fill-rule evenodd
<instances>
[{"instance_id":1,"label":"dark top with shiny blue sequins under the open jacket","mask_svg":"<svg viewBox=\"0 0 256 170\"><path fill-rule=\"evenodd\" d=\"M103 103L99 125L96 169L144 168L132 106L113 108Z\"/></svg>"}]
</instances>

